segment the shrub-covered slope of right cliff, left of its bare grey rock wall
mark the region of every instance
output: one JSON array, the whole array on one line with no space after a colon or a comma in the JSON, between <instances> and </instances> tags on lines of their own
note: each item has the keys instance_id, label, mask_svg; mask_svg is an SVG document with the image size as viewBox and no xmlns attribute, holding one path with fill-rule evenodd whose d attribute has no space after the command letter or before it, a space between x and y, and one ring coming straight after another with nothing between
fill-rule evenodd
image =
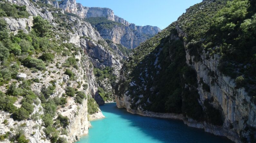
<instances>
[{"instance_id":1,"label":"shrub-covered slope of right cliff, left of its bare grey rock wall","mask_svg":"<svg viewBox=\"0 0 256 143\"><path fill-rule=\"evenodd\" d=\"M131 108L141 107L153 112L183 113L197 120L205 120L221 125L222 111L213 108L208 101L206 110L198 103L198 83L209 91L207 84L196 80L196 73L187 66L184 42L195 61L200 61L204 49L205 37L227 1L213 0L196 4L155 37L138 46L124 62L125 81L120 81L119 96L129 91ZM186 37L178 38L175 25L178 25ZM210 39L210 38L209 38ZM201 46L202 45L202 46ZM214 44L213 44L214 45ZM185 86L186 85L186 86ZM117 87L118 88L118 87ZM216 118L212 118L213 114Z\"/></svg>"}]
</instances>

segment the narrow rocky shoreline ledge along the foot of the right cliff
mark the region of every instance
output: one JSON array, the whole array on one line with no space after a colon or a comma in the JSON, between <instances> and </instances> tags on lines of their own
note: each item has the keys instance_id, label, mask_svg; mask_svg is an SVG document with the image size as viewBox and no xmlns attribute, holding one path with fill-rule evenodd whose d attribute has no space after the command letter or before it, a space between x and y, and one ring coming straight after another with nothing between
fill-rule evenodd
<instances>
[{"instance_id":1,"label":"narrow rocky shoreline ledge along the foot of the right cliff","mask_svg":"<svg viewBox=\"0 0 256 143\"><path fill-rule=\"evenodd\" d=\"M118 107L118 106L117 106ZM120 108L120 107L118 107ZM142 115L146 117L154 117L154 118L163 118L163 119L172 119L172 120L182 120L184 124L189 127L203 129L205 132L212 133L216 136L225 137L234 143L241 143L238 134L235 131L230 131L229 129L223 128L222 126L216 126L206 122L198 122L191 118L184 117L182 114L175 113L155 113L149 111L139 111L126 108L126 111L131 114Z\"/></svg>"}]
</instances>

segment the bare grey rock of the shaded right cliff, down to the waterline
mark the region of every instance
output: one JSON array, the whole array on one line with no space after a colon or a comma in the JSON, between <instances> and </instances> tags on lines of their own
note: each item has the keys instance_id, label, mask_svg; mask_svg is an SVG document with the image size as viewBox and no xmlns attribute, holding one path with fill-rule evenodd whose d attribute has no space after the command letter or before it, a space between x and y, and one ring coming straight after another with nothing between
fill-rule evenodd
<instances>
[{"instance_id":1,"label":"bare grey rock of the shaded right cliff, down to the waterline","mask_svg":"<svg viewBox=\"0 0 256 143\"><path fill-rule=\"evenodd\" d=\"M180 38L186 37L185 32L183 32L181 28L176 26L175 29L177 31L177 36ZM171 38L175 37L171 36ZM184 47L186 46L187 44L184 42ZM207 86L210 88L209 91L206 91L202 83L197 83L199 104L203 109L205 109L207 107L205 107L204 102L212 100L209 104L215 109L222 111L223 125L213 125L205 121L199 122L189 118L188 116L180 116L179 119L182 119L188 126L201 128L204 129L204 131L213 133L215 135L225 136L236 143L242 142L241 138L253 136L253 132L250 132L248 129L256 128L256 106L253 104L253 102L251 102L251 97L248 96L248 93L244 88L237 88L234 79L224 76L219 71L218 65L220 62L220 55L215 54L209 57L207 56L208 54L203 51L200 53L202 60L195 61L194 56L190 55L187 48L185 48L185 52L186 64L196 71L197 81L207 84ZM169 57L172 57L172 53L169 54ZM125 74L127 74L127 71L125 71L124 68L120 73L120 81L126 81ZM130 86L133 86L135 83L130 84ZM143 86L140 88L143 88ZM116 97L117 107L126 108L128 112L133 114L151 117L166 117L160 113L150 113L145 111L140 105L137 107L137 110L131 109L131 102L133 102L133 100L134 99L131 99L131 96L127 91L126 93L123 93L121 97ZM139 102L140 100L138 100L136 103ZM150 101L148 100L147 102ZM167 118L177 119L176 116L169 116Z\"/></svg>"}]
</instances>

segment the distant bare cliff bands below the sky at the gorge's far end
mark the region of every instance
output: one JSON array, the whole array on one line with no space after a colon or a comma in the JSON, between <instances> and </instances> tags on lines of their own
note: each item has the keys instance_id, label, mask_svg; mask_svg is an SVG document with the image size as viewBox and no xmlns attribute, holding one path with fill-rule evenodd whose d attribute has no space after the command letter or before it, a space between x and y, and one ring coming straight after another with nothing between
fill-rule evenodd
<instances>
[{"instance_id":1,"label":"distant bare cliff bands below the sky at the gorge's far end","mask_svg":"<svg viewBox=\"0 0 256 143\"><path fill-rule=\"evenodd\" d=\"M161 31L160 28L153 26L135 26L135 24L130 24L114 15L114 12L109 8L84 7L82 4L76 3L76 0L64 0L59 4L59 7L66 12L78 15L80 18L105 17L108 20L121 23L122 25L115 25L110 29L99 30L100 36L131 49Z\"/></svg>"}]
</instances>

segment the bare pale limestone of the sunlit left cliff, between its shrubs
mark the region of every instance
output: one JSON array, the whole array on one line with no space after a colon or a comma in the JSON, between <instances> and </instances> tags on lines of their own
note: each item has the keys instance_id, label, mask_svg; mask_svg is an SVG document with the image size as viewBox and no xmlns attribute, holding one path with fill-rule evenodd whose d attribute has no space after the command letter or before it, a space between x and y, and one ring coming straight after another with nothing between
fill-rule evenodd
<instances>
[{"instance_id":1,"label":"bare pale limestone of the sunlit left cliff, between its shrubs","mask_svg":"<svg viewBox=\"0 0 256 143\"><path fill-rule=\"evenodd\" d=\"M65 96L65 90L67 87L76 88L77 91L82 91L85 93L86 97L82 100L81 103L77 102L75 97L67 97L67 103L58 106L56 115L54 116L54 122L58 115L63 115L68 118L69 124L66 126L67 133L61 134L60 137L65 138L68 142L75 142L84 134L88 133L90 126L89 123L89 113L88 113L88 100L93 97L98 104L104 104L103 99L98 94L97 81L93 74L93 68L110 66L115 69L116 75L121 68L120 60L123 59L122 52L119 49L113 51L109 48L107 42L100 36L100 34L92 28L90 23L87 23L79 18L65 15L63 10L55 9L51 7L57 7L56 2L52 1L36 1L34 0L18 0L8 2L25 5L27 11L31 16L28 18L11 18L4 17L6 21L7 29L11 33L16 35L19 30L23 30L24 33L30 33L33 27L33 16L41 16L43 19L48 20L52 25L51 31L54 33L54 36L50 41L59 41L60 45L73 45L74 49L78 49L76 52L71 52L71 55L65 54L54 54L54 59L52 62L48 63L45 71L31 70L25 66L21 66L19 72L19 78L23 80L33 80L39 79L40 82L33 82L31 84L31 91L38 94L40 97L40 92L44 87L54 86L54 93L49 97L54 99L55 97ZM40 6L38 6L40 4ZM96 8L97 9L97 8ZM61 21L61 22L60 22ZM62 22L66 22L68 26L63 27ZM64 49L67 51L68 48L65 46ZM62 51L63 52L63 51ZM115 53L116 52L116 53ZM31 55L33 58L38 58L39 55ZM74 74L73 79L69 75L64 74L66 68L62 68L68 58L74 57L77 62L76 68L70 68L71 72ZM2 66L1 66L2 69ZM16 83L17 87L22 84L23 80L18 81L16 77L11 80L8 84L1 85L0 91L6 92L11 83ZM53 83L50 83L50 82ZM82 85L82 86L81 86ZM19 108L22 106L23 97L19 97L14 103L14 106ZM40 101L39 99L37 99ZM33 113L32 115L44 115L43 105L44 103L39 102L38 104L33 103ZM10 132L9 137L15 137L17 133L16 130L22 126L24 135L29 142L50 142L49 135L46 135L45 127L43 126L42 118L38 119L28 119L28 120L15 120L12 117L12 114L1 111L0 122L7 122L5 124L0 124L1 132L0 134L6 134ZM100 110L98 109L97 115L92 115L92 118L104 117ZM64 128L63 128L64 129ZM62 127L60 129L62 130ZM62 131L60 131L62 133ZM10 142L10 140L5 139L3 142Z\"/></svg>"}]
</instances>

